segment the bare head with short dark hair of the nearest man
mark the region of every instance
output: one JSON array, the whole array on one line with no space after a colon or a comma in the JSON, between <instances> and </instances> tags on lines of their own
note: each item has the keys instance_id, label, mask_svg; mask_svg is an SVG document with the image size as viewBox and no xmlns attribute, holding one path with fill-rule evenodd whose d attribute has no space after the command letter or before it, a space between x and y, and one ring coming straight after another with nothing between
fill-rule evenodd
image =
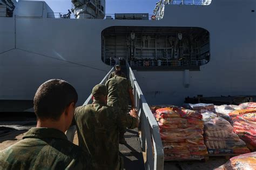
<instances>
[{"instance_id":1,"label":"bare head with short dark hair of the nearest man","mask_svg":"<svg viewBox=\"0 0 256 170\"><path fill-rule=\"evenodd\" d=\"M64 114L65 124L69 127L77 100L78 94L68 82L59 79L45 81L38 87L33 101L37 119L58 121Z\"/></svg>"}]
</instances>

